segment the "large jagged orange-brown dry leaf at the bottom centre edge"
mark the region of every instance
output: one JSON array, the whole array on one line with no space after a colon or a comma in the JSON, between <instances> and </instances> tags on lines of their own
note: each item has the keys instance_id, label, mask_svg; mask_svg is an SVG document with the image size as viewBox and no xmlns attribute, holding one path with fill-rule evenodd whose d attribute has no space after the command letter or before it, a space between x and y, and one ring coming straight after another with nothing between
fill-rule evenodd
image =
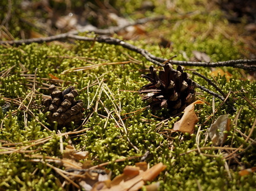
<instances>
[{"instance_id":1,"label":"large jagged orange-brown dry leaf at the bottom centre edge","mask_svg":"<svg viewBox=\"0 0 256 191\"><path fill-rule=\"evenodd\" d=\"M123 173L116 176L110 184L99 182L94 185L92 191L138 191L147 181L152 181L166 167L162 163L158 163L148 170L142 170L141 164L138 166L126 166ZM155 186L155 191L157 191L158 187Z\"/></svg>"}]
</instances>

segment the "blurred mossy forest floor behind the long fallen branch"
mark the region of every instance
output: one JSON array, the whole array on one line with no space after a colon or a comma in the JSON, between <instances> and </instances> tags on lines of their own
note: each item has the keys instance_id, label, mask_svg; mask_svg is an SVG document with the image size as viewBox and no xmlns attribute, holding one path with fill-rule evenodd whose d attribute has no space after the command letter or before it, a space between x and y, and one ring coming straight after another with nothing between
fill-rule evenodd
<instances>
[{"instance_id":1,"label":"blurred mossy forest floor behind the long fallen branch","mask_svg":"<svg viewBox=\"0 0 256 191\"><path fill-rule=\"evenodd\" d=\"M219 41L221 35L234 45L245 45L239 57L231 58L255 58L255 0L1 0L0 39L46 37L85 27L92 31L108 29L159 16L164 19L116 33L127 40L144 40L171 51L186 51L187 42L193 46L197 40ZM190 55L183 55L186 57Z\"/></svg>"}]
</instances>

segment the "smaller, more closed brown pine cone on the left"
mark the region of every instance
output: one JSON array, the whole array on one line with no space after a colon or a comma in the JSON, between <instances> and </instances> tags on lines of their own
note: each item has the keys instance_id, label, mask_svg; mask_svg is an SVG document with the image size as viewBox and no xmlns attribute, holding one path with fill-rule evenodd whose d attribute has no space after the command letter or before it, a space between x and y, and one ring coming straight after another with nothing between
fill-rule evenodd
<instances>
[{"instance_id":1,"label":"smaller, more closed brown pine cone on the left","mask_svg":"<svg viewBox=\"0 0 256 191\"><path fill-rule=\"evenodd\" d=\"M43 113L49 111L47 122L53 127L54 121L57 121L58 128L70 127L72 121L74 124L78 124L83 117L81 112L83 103L74 100L78 96L77 90L70 86L61 91L54 85L51 85L48 90L52 98L42 100L42 104L45 106Z\"/></svg>"}]
</instances>

